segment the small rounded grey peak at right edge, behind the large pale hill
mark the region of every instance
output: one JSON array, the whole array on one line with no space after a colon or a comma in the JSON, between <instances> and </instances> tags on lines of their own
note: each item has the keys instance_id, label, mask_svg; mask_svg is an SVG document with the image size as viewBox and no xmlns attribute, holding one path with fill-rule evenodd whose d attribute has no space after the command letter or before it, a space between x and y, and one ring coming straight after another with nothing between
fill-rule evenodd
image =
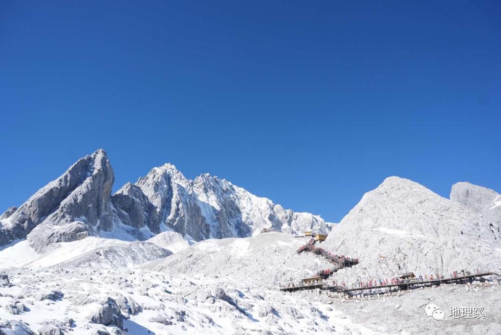
<instances>
[{"instance_id":1,"label":"small rounded grey peak at right edge, behind the large pale hill","mask_svg":"<svg viewBox=\"0 0 501 335\"><path fill-rule=\"evenodd\" d=\"M467 182L452 185L450 199L473 213L501 225L501 195L494 190Z\"/></svg>"}]
</instances>

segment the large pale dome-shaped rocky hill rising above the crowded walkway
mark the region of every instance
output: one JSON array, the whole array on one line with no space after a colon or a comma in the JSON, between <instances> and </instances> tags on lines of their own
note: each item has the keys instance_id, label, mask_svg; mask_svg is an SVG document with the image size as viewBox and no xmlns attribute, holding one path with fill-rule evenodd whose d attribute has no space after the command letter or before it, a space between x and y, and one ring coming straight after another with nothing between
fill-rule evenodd
<instances>
[{"instance_id":1,"label":"large pale dome-shaped rocky hill rising above the crowded walkway","mask_svg":"<svg viewBox=\"0 0 501 335\"><path fill-rule=\"evenodd\" d=\"M332 229L323 248L360 259L338 272L338 280L496 269L501 265L498 228L418 183L389 177Z\"/></svg>"}]
</instances>

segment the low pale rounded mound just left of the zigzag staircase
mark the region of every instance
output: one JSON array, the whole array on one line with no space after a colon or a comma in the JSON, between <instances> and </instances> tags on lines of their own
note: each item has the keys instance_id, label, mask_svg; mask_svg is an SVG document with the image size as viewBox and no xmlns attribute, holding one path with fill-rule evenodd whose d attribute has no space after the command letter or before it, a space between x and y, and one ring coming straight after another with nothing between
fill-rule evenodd
<instances>
[{"instance_id":1,"label":"low pale rounded mound just left of the zigzag staircase","mask_svg":"<svg viewBox=\"0 0 501 335\"><path fill-rule=\"evenodd\" d=\"M209 239L143 266L173 275L203 274L232 278L247 285L276 287L279 282L306 278L332 266L313 254L297 254L297 249L307 242L308 238L276 232L247 238Z\"/></svg>"}]
</instances>

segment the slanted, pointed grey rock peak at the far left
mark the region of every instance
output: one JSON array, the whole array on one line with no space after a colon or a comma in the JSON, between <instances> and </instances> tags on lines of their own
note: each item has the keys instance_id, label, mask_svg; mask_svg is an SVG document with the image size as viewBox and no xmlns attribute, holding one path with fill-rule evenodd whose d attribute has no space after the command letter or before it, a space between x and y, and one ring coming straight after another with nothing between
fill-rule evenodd
<instances>
[{"instance_id":1,"label":"slanted, pointed grey rock peak at the far left","mask_svg":"<svg viewBox=\"0 0 501 335\"><path fill-rule=\"evenodd\" d=\"M99 149L73 164L2 221L0 244L28 236L40 250L51 242L73 241L111 230L113 170Z\"/></svg>"}]
</instances>

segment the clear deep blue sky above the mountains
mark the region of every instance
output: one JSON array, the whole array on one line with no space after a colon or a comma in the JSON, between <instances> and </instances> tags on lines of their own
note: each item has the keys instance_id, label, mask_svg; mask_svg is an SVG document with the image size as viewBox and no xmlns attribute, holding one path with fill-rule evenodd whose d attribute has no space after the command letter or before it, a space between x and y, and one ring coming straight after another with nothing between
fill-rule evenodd
<instances>
[{"instance_id":1,"label":"clear deep blue sky above the mountains","mask_svg":"<svg viewBox=\"0 0 501 335\"><path fill-rule=\"evenodd\" d=\"M440 3L440 4L439 4ZM0 212L97 148L339 221L385 177L501 191L501 5L0 8Z\"/></svg>"}]
</instances>

